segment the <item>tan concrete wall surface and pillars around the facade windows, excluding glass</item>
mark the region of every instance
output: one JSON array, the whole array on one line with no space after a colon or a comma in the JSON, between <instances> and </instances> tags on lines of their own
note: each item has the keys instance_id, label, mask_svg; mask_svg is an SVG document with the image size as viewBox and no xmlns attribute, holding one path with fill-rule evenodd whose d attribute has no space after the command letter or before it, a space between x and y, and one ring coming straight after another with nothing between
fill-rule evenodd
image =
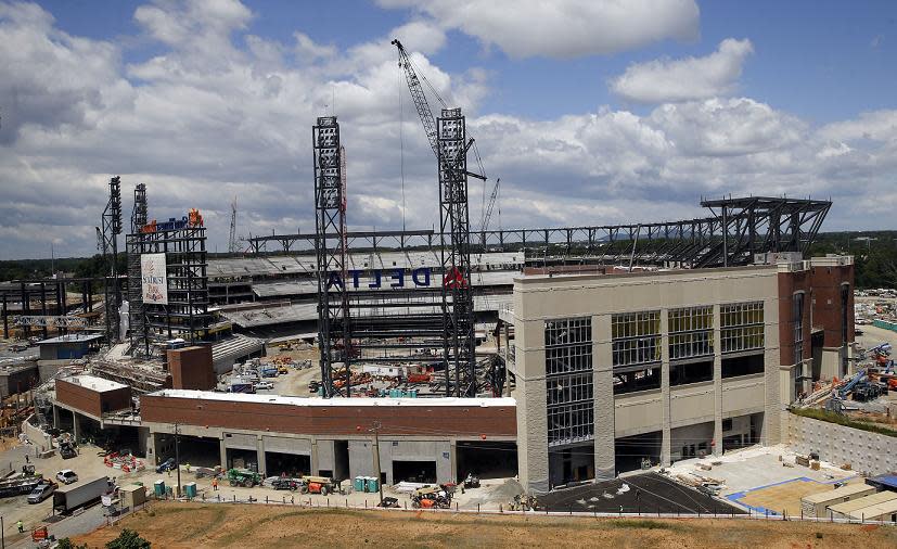
<instances>
[{"instance_id":1,"label":"tan concrete wall surface and pillars around the facade windows, excluding glass","mask_svg":"<svg viewBox=\"0 0 897 549\"><path fill-rule=\"evenodd\" d=\"M520 474L524 486L548 478L544 396L544 321L591 317L595 399L595 474L613 470L613 439L664 432L664 460L669 459L669 430L712 422L721 438L721 419L765 412L764 438L780 439L778 271L774 266L681 270L615 276L525 277L514 285ZM712 382L669 387L666 350L661 390L614 397L611 316L661 310L666 349L666 309L715 305L715 341L719 342L719 304L764 302L766 373L721 380L719 357ZM717 348L719 343L717 343ZM717 350L717 355L719 352ZM612 404L613 403L613 404ZM716 449L721 447L718 442Z\"/></svg>"}]
</instances>

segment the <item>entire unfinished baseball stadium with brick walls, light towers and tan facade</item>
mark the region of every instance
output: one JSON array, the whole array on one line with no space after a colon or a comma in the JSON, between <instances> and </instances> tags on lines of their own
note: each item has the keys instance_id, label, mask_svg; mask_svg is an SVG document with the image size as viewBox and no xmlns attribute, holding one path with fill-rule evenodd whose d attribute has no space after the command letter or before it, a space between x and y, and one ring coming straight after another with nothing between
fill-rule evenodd
<instances>
[{"instance_id":1,"label":"entire unfinished baseball stadium with brick walls, light towers and tan facade","mask_svg":"<svg viewBox=\"0 0 897 549\"><path fill-rule=\"evenodd\" d=\"M154 463L180 446L262 475L476 471L537 494L779 444L785 407L848 373L853 258L806 257L830 202L728 196L694 219L496 230L496 190L472 229L467 179L484 176L465 118L432 114L395 44L436 161L438 230L349 230L335 116L311 128L315 232L251 237L245 254L209 258L200 212L153 220L140 184L119 272L114 177L97 227L107 276L0 288L4 335L43 331L36 429ZM306 354L272 360L285 346ZM303 394L259 388L303 360Z\"/></svg>"}]
</instances>

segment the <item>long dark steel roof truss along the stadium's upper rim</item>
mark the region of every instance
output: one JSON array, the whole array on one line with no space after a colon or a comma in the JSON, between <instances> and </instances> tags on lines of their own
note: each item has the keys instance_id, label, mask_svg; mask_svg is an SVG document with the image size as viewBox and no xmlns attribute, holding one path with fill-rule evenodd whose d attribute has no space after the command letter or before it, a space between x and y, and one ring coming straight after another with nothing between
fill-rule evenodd
<instances>
[{"instance_id":1,"label":"long dark steel roof truss along the stadium's upper rim","mask_svg":"<svg viewBox=\"0 0 897 549\"><path fill-rule=\"evenodd\" d=\"M473 231L471 252L522 250L527 253L527 260L534 263L582 258L613 264L628 261L636 243L633 259L638 265L687 268L747 265L753 254L806 253L831 202L746 197L705 201L702 205L710 208L713 216L653 224ZM349 232L348 235L356 242L354 250L361 246L383 251L433 248L437 240L432 231ZM306 247L304 243L313 245L315 239L312 234L274 234L253 237L249 243L260 255L269 253L268 243L280 243L282 252L298 252Z\"/></svg>"}]
</instances>

